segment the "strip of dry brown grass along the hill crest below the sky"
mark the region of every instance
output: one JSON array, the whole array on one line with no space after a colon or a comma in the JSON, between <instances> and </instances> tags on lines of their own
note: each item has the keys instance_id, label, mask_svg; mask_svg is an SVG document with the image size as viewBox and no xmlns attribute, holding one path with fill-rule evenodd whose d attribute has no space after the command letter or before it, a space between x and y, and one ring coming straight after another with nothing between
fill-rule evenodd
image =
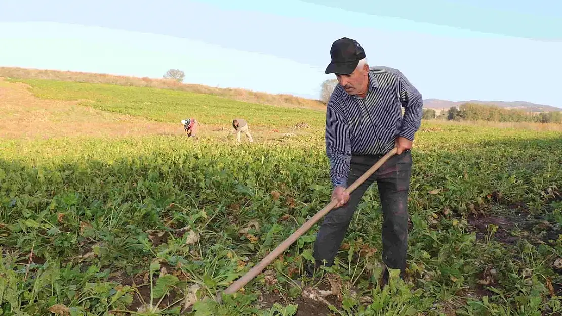
<instances>
[{"instance_id":1,"label":"strip of dry brown grass along the hill crest below the sky","mask_svg":"<svg viewBox=\"0 0 562 316\"><path fill-rule=\"evenodd\" d=\"M295 97L290 94L268 94L244 89L213 88L211 86L182 84L175 80L153 79L148 77L115 76L94 74L90 72L40 70L19 67L0 67L0 77L17 79L46 79L59 81L73 81L79 83L102 83L123 86L151 87L160 89L184 90L193 93L217 95L219 97L270 104L273 106L298 107L324 110L325 106L319 100Z\"/></svg>"}]
</instances>

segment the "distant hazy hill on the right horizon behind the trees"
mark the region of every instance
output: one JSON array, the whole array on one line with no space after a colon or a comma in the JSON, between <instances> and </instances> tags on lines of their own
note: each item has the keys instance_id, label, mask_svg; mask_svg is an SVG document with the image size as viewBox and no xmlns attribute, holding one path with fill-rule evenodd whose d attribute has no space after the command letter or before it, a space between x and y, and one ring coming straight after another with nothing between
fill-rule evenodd
<instances>
[{"instance_id":1,"label":"distant hazy hill on the right horizon behind the trees","mask_svg":"<svg viewBox=\"0 0 562 316\"><path fill-rule=\"evenodd\" d=\"M521 109L526 112L558 112L562 108L547 106L545 104L536 104L524 101L481 101L481 100L466 100L466 101L449 101L441 99L425 99L424 108L429 109L448 109L450 107L459 107L463 103L478 103L486 104L488 106L497 106L508 109Z\"/></svg>"}]
</instances>

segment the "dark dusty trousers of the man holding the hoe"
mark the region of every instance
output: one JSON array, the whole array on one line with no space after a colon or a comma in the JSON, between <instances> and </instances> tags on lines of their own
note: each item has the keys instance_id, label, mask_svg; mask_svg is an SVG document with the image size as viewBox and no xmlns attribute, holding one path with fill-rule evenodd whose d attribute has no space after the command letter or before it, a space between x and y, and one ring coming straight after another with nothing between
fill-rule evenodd
<instances>
[{"instance_id":1,"label":"dark dusty trousers of the man holding the hoe","mask_svg":"<svg viewBox=\"0 0 562 316\"><path fill-rule=\"evenodd\" d=\"M357 155L351 158L347 185L369 170L382 155ZM314 244L316 267L323 264L333 265L339 246L345 237L353 213L368 187L377 181L380 202L383 211L382 225L382 260L387 267L400 269L402 275L406 269L407 235L408 235L408 191L412 169L410 150L400 155L393 155L386 163L373 173L362 185L350 194L346 205L333 209L320 226ZM374 211L374 210L373 210Z\"/></svg>"}]
</instances>

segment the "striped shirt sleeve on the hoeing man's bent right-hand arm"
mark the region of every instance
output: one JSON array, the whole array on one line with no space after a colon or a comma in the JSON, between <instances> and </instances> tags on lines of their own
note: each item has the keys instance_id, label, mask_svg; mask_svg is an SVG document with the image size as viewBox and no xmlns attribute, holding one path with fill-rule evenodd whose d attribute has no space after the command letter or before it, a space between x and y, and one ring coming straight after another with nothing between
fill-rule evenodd
<instances>
[{"instance_id":1,"label":"striped shirt sleeve on the hoeing man's bent right-hand arm","mask_svg":"<svg viewBox=\"0 0 562 316\"><path fill-rule=\"evenodd\" d=\"M398 74L400 102L404 107L400 136L414 140L414 134L422 124L422 94L401 73Z\"/></svg>"}]
</instances>

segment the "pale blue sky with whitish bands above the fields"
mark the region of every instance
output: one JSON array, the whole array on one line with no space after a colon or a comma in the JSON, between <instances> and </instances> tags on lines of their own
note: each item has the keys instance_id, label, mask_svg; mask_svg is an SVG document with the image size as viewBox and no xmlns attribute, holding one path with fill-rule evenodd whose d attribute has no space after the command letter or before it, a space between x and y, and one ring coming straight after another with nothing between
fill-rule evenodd
<instances>
[{"instance_id":1,"label":"pale blue sky with whitish bands above the fields","mask_svg":"<svg viewBox=\"0 0 562 316\"><path fill-rule=\"evenodd\" d=\"M562 107L560 1L342 3L2 0L0 65L148 77L180 68L187 83L318 98L333 77L330 45L347 36L424 98Z\"/></svg>"}]
</instances>

